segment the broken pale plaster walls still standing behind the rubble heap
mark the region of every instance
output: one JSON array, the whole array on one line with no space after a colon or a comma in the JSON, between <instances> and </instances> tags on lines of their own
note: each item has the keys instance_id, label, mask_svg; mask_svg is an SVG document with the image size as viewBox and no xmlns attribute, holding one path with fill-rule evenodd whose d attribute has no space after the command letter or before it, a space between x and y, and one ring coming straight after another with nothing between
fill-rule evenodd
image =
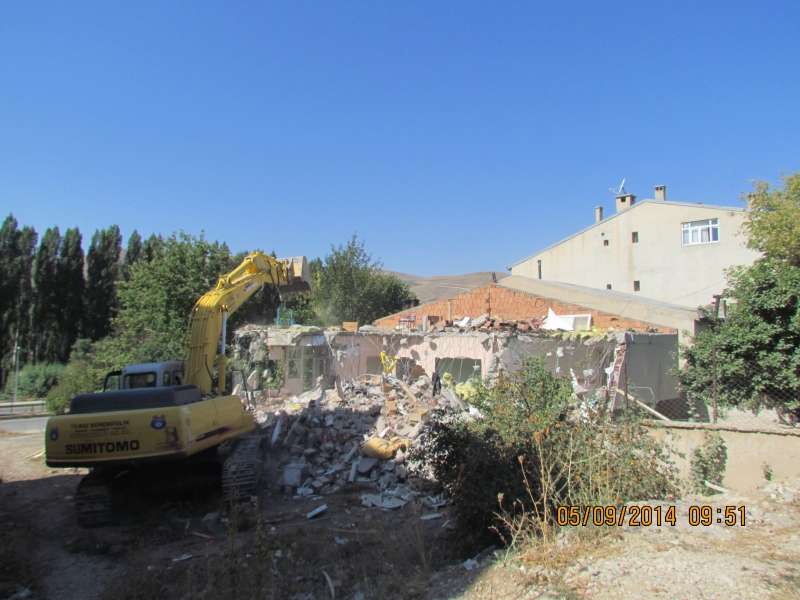
<instances>
[{"instance_id":1,"label":"broken pale plaster walls still standing behind the rubble heap","mask_svg":"<svg viewBox=\"0 0 800 600\"><path fill-rule=\"evenodd\" d=\"M431 376L450 372L458 381L474 375L486 378L498 370L515 371L530 356L543 356L548 368L573 380L576 392L594 394L608 385L615 350L627 344L629 391L648 402L675 395L667 375L674 366L676 334L577 333L547 334L497 331L381 333L272 330L243 337L235 356L248 361L266 355L283 361L281 393L299 395L317 385L323 375L342 380L378 374L381 352L399 359L396 374L420 366ZM477 369L475 367L478 367ZM583 388L583 389L581 389ZM646 388L647 393L637 393Z\"/></svg>"}]
</instances>

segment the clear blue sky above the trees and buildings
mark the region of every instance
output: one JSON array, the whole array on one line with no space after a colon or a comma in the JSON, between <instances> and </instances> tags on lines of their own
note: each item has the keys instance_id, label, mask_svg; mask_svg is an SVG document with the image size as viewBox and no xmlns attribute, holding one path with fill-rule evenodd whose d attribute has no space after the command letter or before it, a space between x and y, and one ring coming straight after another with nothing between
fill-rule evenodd
<instances>
[{"instance_id":1,"label":"clear blue sky above the trees and buildings","mask_svg":"<svg viewBox=\"0 0 800 600\"><path fill-rule=\"evenodd\" d=\"M800 3L0 3L0 213L504 270L800 170ZM0 217L1 218L1 217Z\"/></svg>"}]
</instances>

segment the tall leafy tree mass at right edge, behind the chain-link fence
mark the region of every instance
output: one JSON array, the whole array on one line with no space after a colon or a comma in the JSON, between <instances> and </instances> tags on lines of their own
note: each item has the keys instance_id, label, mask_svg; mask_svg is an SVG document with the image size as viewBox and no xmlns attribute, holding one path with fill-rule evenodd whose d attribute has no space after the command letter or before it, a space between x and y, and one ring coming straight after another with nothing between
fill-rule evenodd
<instances>
[{"instance_id":1,"label":"tall leafy tree mass at right edge, behind the chain-link fence","mask_svg":"<svg viewBox=\"0 0 800 600\"><path fill-rule=\"evenodd\" d=\"M728 270L727 318L700 309L707 328L675 372L690 399L712 402L716 354L718 403L753 411L775 408L795 420L800 410L800 174L784 187L755 182L743 232L748 247L764 253L750 267Z\"/></svg>"}]
</instances>

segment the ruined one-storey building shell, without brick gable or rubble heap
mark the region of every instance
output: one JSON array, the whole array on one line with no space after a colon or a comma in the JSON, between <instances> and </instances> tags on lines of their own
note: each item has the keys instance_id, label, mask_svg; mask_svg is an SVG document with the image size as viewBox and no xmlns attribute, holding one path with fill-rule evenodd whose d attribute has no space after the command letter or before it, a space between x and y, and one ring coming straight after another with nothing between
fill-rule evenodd
<instances>
[{"instance_id":1,"label":"ruined one-storey building shell, without brick gable or rubble heap","mask_svg":"<svg viewBox=\"0 0 800 600\"><path fill-rule=\"evenodd\" d=\"M669 375L677 364L675 333L548 330L547 324L532 327L488 317L482 323L477 319L477 326L462 324L424 333L373 326L349 332L248 325L235 332L234 358L244 363L248 375L235 391L299 396L331 388L336 381L379 376L386 370L382 355L396 361L392 374L401 381L438 373L454 384L515 371L525 358L541 356L553 373L572 379L576 394L608 396L609 390L627 390L652 407L677 397L676 382ZM273 363L280 373L260 372L267 358L280 361ZM267 375L276 376L279 387L262 392L266 386L259 385L260 379ZM622 401L624 395L617 399Z\"/></svg>"}]
</instances>

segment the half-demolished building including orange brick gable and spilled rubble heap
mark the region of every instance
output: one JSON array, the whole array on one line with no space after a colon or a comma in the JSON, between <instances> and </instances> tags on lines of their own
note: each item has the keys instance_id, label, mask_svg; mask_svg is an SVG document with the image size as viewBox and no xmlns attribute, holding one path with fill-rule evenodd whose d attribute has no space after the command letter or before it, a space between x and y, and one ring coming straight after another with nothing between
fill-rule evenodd
<instances>
[{"instance_id":1,"label":"half-demolished building including orange brick gable and spilled rubble heap","mask_svg":"<svg viewBox=\"0 0 800 600\"><path fill-rule=\"evenodd\" d=\"M515 279L524 278L507 278L525 283ZM528 357L568 377L578 407L614 411L631 401L665 418L661 409L679 403L670 375L678 331L696 332L696 314L567 291L573 297L489 284L361 327L238 329L234 393L252 402L271 432L275 485L313 498L372 482L376 493L362 496L365 506L402 506L418 493L410 491L414 467L404 449L425 424L474 418L470 380L516 371Z\"/></svg>"}]
</instances>

